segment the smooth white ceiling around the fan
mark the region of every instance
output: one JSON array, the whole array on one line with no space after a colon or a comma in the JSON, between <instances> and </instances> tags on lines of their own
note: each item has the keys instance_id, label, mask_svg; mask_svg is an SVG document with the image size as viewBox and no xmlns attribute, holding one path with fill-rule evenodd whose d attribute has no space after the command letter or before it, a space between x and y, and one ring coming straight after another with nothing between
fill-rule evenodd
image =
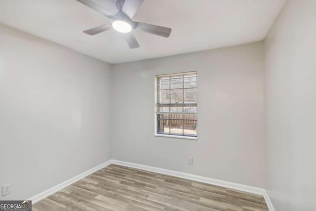
<instances>
[{"instance_id":1,"label":"smooth white ceiling around the fan","mask_svg":"<svg viewBox=\"0 0 316 211\"><path fill-rule=\"evenodd\" d=\"M261 41L284 2L145 0L133 20L172 32L163 38L135 30L136 49L129 49L115 30L82 33L111 20L76 0L0 0L0 22L105 62L122 63Z\"/></svg>"}]
</instances>

